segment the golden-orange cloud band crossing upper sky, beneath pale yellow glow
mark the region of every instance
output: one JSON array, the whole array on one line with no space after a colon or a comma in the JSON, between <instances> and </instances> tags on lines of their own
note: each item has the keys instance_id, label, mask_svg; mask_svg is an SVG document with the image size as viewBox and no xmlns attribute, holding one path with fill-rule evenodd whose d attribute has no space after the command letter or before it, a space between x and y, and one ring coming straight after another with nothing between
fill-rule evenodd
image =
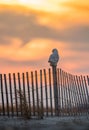
<instances>
[{"instance_id":1,"label":"golden-orange cloud band crossing upper sky, beneath pale yellow glow","mask_svg":"<svg viewBox=\"0 0 89 130\"><path fill-rule=\"evenodd\" d=\"M50 4L52 3L50 2ZM55 7L61 7L61 11L49 12L46 10L36 10L30 6L28 8L22 5L0 5L0 10L10 10L17 13L23 13L24 15L35 15L38 24L57 30L64 30L65 28L75 25L89 25L88 5L89 4L83 5L83 3L81 4L81 2L79 3L77 1L57 1Z\"/></svg>"}]
</instances>

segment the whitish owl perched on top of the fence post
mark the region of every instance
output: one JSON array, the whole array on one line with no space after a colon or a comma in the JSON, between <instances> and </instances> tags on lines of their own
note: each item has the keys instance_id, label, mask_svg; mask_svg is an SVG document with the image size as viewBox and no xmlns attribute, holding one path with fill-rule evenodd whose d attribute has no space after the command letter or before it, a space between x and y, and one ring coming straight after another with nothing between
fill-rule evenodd
<instances>
[{"instance_id":1,"label":"whitish owl perched on top of the fence post","mask_svg":"<svg viewBox=\"0 0 89 130\"><path fill-rule=\"evenodd\" d=\"M48 62L50 63L51 66L56 66L58 61L59 61L58 51L57 49L53 49Z\"/></svg>"}]
</instances>

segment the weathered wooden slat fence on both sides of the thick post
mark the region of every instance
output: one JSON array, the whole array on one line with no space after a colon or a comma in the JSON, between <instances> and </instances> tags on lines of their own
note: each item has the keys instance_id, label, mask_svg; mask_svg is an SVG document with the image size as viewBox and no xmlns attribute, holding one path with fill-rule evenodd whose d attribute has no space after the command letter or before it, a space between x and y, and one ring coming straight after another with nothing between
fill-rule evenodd
<instances>
[{"instance_id":1,"label":"weathered wooden slat fence on both sides of the thick post","mask_svg":"<svg viewBox=\"0 0 89 130\"><path fill-rule=\"evenodd\" d=\"M75 116L89 113L89 76L57 69L57 108L51 69L0 74L0 116ZM56 113L57 109L57 113Z\"/></svg>"}]
</instances>

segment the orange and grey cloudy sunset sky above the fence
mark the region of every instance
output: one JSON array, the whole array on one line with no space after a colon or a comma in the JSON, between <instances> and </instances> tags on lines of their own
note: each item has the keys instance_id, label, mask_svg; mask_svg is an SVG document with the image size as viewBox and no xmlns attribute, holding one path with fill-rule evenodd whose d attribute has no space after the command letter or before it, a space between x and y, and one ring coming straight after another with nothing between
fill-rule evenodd
<instances>
[{"instance_id":1,"label":"orange and grey cloudy sunset sky above the fence","mask_svg":"<svg viewBox=\"0 0 89 130\"><path fill-rule=\"evenodd\" d=\"M89 0L0 0L0 73L58 67L89 74Z\"/></svg>"}]
</instances>

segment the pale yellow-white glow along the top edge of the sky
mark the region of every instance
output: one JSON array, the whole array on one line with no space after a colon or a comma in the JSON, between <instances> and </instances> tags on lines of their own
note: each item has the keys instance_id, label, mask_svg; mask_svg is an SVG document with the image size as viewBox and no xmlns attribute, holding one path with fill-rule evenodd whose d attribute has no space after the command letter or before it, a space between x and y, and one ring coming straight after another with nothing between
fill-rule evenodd
<instances>
[{"instance_id":1,"label":"pale yellow-white glow along the top edge of the sky","mask_svg":"<svg viewBox=\"0 0 89 130\"><path fill-rule=\"evenodd\" d=\"M43 10L47 12L60 12L68 10L68 8L63 8L61 3L69 0L0 0L2 4L13 4L13 5L22 5L27 8L32 8L35 10Z\"/></svg>"}]
</instances>

